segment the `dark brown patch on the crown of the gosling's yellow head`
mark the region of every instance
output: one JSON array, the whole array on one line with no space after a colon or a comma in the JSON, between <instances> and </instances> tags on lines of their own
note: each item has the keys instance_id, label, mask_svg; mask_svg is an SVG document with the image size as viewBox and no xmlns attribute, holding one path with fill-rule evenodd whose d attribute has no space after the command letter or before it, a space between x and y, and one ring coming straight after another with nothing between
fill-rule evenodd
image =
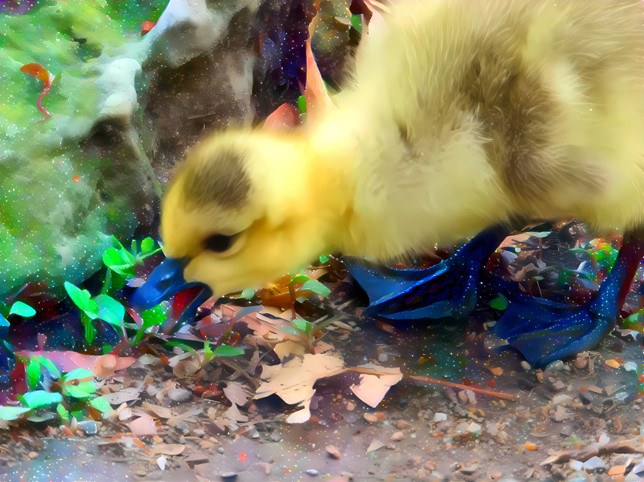
<instances>
[{"instance_id":1,"label":"dark brown patch on the crown of the gosling's yellow head","mask_svg":"<svg viewBox=\"0 0 644 482\"><path fill-rule=\"evenodd\" d=\"M251 181L239 153L198 151L182 173L182 189L188 207L217 206L240 209L247 202Z\"/></svg>"}]
</instances>

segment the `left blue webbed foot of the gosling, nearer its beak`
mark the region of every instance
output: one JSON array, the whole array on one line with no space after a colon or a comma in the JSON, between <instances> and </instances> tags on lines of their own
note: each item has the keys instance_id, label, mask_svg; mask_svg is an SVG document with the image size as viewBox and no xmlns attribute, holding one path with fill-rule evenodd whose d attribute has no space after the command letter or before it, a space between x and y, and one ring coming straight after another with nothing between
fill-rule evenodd
<instances>
[{"instance_id":1,"label":"left blue webbed foot of the gosling, nearer its beak","mask_svg":"<svg viewBox=\"0 0 644 482\"><path fill-rule=\"evenodd\" d=\"M346 267L366 291L370 305L363 314L389 320L463 317L478 298L479 277L505 230L491 228L435 266L419 270L375 268L346 257Z\"/></svg>"}]
</instances>

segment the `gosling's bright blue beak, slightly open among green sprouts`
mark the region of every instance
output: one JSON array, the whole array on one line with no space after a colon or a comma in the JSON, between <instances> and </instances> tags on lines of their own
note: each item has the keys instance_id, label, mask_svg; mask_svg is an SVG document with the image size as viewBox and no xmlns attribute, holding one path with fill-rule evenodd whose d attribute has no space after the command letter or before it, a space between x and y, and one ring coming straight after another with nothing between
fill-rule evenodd
<instances>
[{"instance_id":1,"label":"gosling's bright blue beak, slightly open among green sprouts","mask_svg":"<svg viewBox=\"0 0 644 482\"><path fill-rule=\"evenodd\" d=\"M181 304L185 306L176 320L176 326L190 322L196 310L212 296L211 289L203 283L187 283L184 279L185 262L182 259L166 258L156 266L146 280L130 297L132 307L137 311L150 310L157 304L180 292L189 292L189 298Z\"/></svg>"}]
</instances>

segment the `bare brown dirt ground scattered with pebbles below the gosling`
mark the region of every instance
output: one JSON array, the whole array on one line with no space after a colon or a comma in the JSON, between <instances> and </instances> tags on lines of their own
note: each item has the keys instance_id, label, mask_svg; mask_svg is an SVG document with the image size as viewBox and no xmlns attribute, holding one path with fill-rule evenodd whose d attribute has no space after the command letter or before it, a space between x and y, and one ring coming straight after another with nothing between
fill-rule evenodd
<instances>
[{"instance_id":1,"label":"bare brown dirt ground scattered with pebbles below the gosling","mask_svg":"<svg viewBox=\"0 0 644 482\"><path fill-rule=\"evenodd\" d=\"M142 447L114 438L118 423L98 422L96 435L81 438L41 438L38 427L27 427L1 446L0 480L642 479L644 403L635 372L625 369L643 358L637 333L614 331L596 351L535 371L512 351L497 353L498 340L486 331L445 323L388 333L348 315L343 321L354 330L331 332L328 342L347 364L424 365L428 376L493 387L516 400L403 380L372 409L350 391L355 376L343 374L318 382L306 423L284 423L292 409L272 396L249 408L249 422L221 427L209 418L220 402L165 398L156 403L189 416L164 423ZM137 362L117 375L135 385L170 374ZM157 444L164 448L155 451ZM180 454L164 455L175 444L184 446Z\"/></svg>"}]
</instances>

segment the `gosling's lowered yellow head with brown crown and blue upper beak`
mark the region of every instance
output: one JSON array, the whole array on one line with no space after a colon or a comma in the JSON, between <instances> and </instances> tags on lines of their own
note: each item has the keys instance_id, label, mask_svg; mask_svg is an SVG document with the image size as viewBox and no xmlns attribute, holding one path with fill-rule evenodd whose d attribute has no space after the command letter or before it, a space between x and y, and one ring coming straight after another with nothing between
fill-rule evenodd
<instances>
[{"instance_id":1,"label":"gosling's lowered yellow head with brown crown and blue upper beak","mask_svg":"<svg viewBox=\"0 0 644 482\"><path fill-rule=\"evenodd\" d=\"M326 227L339 215L322 199L313 158L297 132L227 131L196 145L162 201L166 268L137 298L148 285L156 300L160 284L176 292L192 282L221 296L310 263L329 247ZM167 281L170 264L185 281Z\"/></svg>"}]
</instances>

